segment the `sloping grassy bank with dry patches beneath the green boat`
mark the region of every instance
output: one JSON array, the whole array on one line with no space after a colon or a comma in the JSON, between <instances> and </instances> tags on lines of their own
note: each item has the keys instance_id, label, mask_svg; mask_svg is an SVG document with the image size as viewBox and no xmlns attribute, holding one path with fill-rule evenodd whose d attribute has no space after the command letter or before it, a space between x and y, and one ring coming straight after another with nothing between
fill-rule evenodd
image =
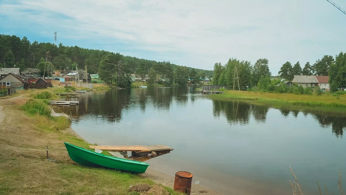
<instances>
[{"instance_id":1,"label":"sloping grassy bank with dry patches beneath the green boat","mask_svg":"<svg viewBox=\"0 0 346 195\"><path fill-rule=\"evenodd\" d=\"M136 184L154 185L140 175L85 167L72 161L63 142L84 148L90 143L66 129L70 126L68 119L50 117L44 99L2 100L0 105L4 113L0 126L0 194L139 195L127 189ZM56 161L46 159L46 146L49 158ZM179 194L166 189L172 195Z\"/></svg>"}]
</instances>

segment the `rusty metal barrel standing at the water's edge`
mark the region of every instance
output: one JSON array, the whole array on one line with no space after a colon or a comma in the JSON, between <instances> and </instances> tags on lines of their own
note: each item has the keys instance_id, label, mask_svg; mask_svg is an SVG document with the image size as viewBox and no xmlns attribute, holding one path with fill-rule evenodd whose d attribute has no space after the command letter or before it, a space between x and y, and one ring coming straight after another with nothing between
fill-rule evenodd
<instances>
[{"instance_id":1,"label":"rusty metal barrel standing at the water's edge","mask_svg":"<svg viewBox=\"0 0 346 195\"><path fill-rule=\"evenodd\" d=\"M175 173L174 190L190 195L192 183L192 173L178 171Z\"/></svg>"}]
</instances>

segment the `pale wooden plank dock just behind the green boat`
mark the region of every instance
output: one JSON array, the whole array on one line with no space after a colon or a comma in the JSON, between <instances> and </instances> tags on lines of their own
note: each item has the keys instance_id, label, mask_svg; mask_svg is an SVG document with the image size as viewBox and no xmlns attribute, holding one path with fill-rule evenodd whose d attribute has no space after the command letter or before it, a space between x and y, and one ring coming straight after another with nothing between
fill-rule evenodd
<instances>
[{"instance_id":1,"label":"pale wooden plank dock just behind the green boat","mask_svg":"<svg viewBox=\"0 0 346 195\"><path fill-rule=\"evenodd\" d=\"M107 151L134 151L134 152L158 152L172 151L166 145L151 145L151 146L89 146L92 149L107 150Z\"/></svg>"}]
</instances>

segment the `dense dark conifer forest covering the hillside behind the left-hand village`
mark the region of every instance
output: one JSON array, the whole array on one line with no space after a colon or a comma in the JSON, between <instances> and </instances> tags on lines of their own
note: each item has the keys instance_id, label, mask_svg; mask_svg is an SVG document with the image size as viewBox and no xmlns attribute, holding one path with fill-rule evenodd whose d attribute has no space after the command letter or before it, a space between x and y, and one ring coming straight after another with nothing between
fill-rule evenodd
<instances>
[{"instance_id":1,"label":"dense dark conifer forest covering the hillside behind the left-hand village","mask_svg":"<svg viewBox=\"0 0 346 195\"><path fill-rule=\"evenodd\" d=\"M184 85L189 78L199 76L211 77L212 70L195 69L179 66L169 61L139 59L123 56L104 50L80 48L79 46L55 45L45 42L30 42L27 37L0 34L0 67L38 68L43 71L47 63L55 70L69 67L75 70L85 69L88 73L99 74L107 83L117 82L120 86L128 86L130 75L136 72L142 78L148 76L149 70L155 70L164 85Z\"/></svg>"}]
</instances>

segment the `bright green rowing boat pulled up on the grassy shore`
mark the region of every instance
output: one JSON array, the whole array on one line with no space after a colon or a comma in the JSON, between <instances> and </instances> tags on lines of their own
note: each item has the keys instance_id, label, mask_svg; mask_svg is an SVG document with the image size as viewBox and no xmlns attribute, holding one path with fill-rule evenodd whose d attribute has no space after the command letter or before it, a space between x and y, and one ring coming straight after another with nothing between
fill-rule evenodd
<instances>
[{"instance_id":1,"label":"bright green rowing boat pulled up on the grassy shore","mask_svg":"<svg viewBox=\"0 0 346 195\"><path fill-rule=\"evenodd\" d=\"M144 173L149 164L145 162L120 159L113 156L96 153L64 142L70 158L84 166L106 167L136 173Z\"/></svg>"}]
</instances>

